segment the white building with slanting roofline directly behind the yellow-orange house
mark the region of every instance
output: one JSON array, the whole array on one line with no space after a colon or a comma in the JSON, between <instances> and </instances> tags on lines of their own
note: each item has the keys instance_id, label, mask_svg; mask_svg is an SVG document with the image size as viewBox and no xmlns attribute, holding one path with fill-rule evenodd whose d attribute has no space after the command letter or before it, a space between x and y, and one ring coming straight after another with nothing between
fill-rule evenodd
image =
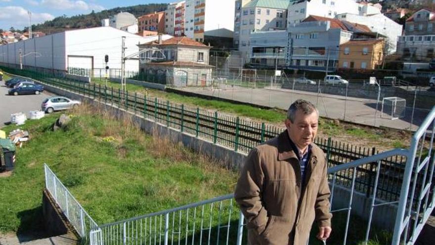
<instances>
[{"instance_id":1,"label":"white building with slanting roofline directly behind the yellow-orange house","mask_svg":"<svg viewBox=\"0 0 435 245\"><path fill-rule=\"evenodd\" d=\"M348 22L366 25L372 32L387 37L388 52L394 53L397 49L398 37L402 35L403 26L396 23L382 13L361 16L357 14L339 14L337 18Z\"/></svg>"}]
</instances>

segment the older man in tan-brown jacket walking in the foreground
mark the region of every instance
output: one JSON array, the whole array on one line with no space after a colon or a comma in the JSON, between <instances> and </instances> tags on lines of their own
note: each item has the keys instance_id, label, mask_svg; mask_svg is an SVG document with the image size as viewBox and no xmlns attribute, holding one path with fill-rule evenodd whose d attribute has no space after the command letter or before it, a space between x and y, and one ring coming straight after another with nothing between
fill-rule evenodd
<instances>
[{"instance_id":1,"label":"older man in tan-brown jacket walking in the foreground","mask_svg":"<svg viewBox=\"0 0 435 245\"><path fill-rule=\"evenodd\" d=\"M248 222L250 245L306 245L314 220L317 238L328 239L327 166L313 143L318 117L312 103L295 101L287 130L249 153L234 196Z\"/></svg>"}]
</instances>

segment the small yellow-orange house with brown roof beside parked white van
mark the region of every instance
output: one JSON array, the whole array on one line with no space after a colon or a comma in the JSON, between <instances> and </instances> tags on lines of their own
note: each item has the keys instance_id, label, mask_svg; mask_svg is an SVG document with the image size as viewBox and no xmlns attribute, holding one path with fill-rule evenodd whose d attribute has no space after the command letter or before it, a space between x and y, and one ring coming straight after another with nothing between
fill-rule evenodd
<instances>
[{"instance_id":1,"label":"small yellow-orange house with brown roof beside parked white van","mask_svg":"<svg viewBox=\"0 0 435 245\"><path fill-rule=\"evenodd\" d=\"M338 68L373 70L384 59L383 39L351 40L340 45Z\"/></svg>"}]
</instances>

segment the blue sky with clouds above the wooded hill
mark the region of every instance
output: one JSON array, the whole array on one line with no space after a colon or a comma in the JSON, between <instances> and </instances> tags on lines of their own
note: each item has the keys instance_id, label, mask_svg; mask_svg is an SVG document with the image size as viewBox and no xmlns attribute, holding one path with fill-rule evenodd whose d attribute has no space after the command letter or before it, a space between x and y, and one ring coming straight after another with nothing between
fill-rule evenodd
<instances>
[{"instance_id":1,"label":"blue sky with clouds above the wooded hill","mask_svg":"<svg viewBox=\"0 0 435 245\"><path fill-rule=\"evenodd\" d=\"M28 10L32 12L32 24L38 24L64 14L87 14L92 9L98 12L118 6L173 1L176 0L0 0L0 28L9 30L13 26L21 30L28 26Z\"/></svg>"}]
</instances>

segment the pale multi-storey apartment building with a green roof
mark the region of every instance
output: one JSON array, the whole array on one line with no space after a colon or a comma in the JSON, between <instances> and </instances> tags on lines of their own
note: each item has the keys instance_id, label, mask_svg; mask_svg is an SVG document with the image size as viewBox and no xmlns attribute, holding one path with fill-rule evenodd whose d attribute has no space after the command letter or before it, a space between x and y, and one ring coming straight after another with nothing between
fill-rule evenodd
<instances>
[{"instance_id":1,"label":"pale multi-storey apartment building with a green roof","mask_svg":"<svg viewBox=\"0 0 435 245\"><path fill-rule=\"evenodd\" d=\"M243 5L242 5L243 4ZM235 2L234 46L245 60L252 51L250 35L254 32L285 30L289 0L239 0Z\"/></svg>"}]
</instances>

